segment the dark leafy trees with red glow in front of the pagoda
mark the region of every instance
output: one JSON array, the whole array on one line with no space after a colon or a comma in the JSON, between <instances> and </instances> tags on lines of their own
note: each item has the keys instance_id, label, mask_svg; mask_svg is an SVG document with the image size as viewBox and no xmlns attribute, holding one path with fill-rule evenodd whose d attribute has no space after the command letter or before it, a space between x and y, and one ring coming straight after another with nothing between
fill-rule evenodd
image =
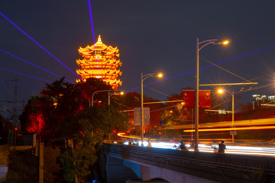
<instances>
[{"instance_id":1,"label":"dark leafy trees with red glow in front of the pagoda","mask_svg":"<svg viewBox=\"0 0 275 183\"><path fill-rule=\"evenodd\" d=\"M88 166L96 160L96 150L106 134L113 130L127 130L128 116L119 105L107 105L111 86L95 78L71 84L64 78L47 84L41 97L32 97L20 116L25 131L35 132L42 139L74 139L76 146L60 156L66 180L79 174L88 174ZM94 95L95 103L89 108ZM72 164L73 163L73 164Z\"/></svg>"}]
</instances>

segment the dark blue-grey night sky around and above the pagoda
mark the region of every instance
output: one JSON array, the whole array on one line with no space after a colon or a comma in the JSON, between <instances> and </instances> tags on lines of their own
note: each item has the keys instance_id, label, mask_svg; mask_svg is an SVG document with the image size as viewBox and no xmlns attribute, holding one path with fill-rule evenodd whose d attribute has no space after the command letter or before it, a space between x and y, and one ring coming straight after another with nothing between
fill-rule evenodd
<instances>
[{"instance_id":1,"label":"dark blue-grey night sky around and above the pagoda","mask_svg":"<svg viewBox=\"0 0 275 183\"><path fill-rule=\"evenodd\" d=\"M243 102L252 102L254 94L271 96L275 92L275 1L91 0L90 7L95 42L101 35L105 45L119 49L119 78L123 83L118 90L140 93L141 73L163 73L160 82L153 77L143 82L156 82L144 86L144 95L161 101L166 95L181 93L183 87L195 87L195 46L199 38L200 42L229 40L226 46L205 46L199 56L235 74L207 67L199 72L200 84L258 82L252 90L239 94ZM38 96L45 83L59 80L58 76L75 82L74 73L80 68L76 59L82 59L78 48L94 44L87 1L2 0L0 13L1 101L14 100L15 84L6 80L17 78L18 101L24 99L25 103L31 96ZM200 68L210 65L204 59L199 60ZM241 87L226 89L237 92ZM0 105L13 110L12 103ZM9 114L2 107L0 111L4 116Z\"/></svg>"}]
</instances>

